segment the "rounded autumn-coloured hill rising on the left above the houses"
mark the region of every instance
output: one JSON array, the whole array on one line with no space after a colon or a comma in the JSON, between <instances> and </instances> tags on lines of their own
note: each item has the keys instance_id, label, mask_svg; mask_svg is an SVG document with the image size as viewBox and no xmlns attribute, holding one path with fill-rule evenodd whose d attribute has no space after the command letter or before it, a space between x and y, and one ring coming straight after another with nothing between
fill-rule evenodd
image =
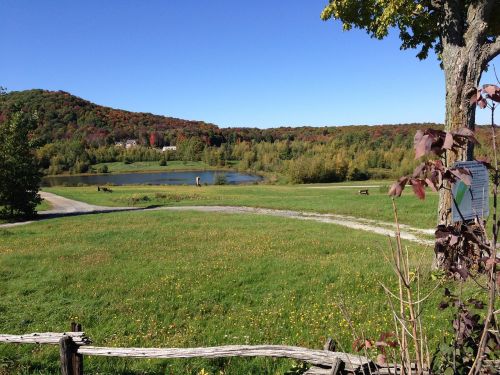
<instances>
[{"instance_id":1,"label":"rounded autumn-coloured hill rising on the left above the houses","mask_svg":"<svg viewBox=\"0 0 500 375\"><path fill-rule=\"evenodd\" d=\"M21 106L36 110L39 126L36 136L42 143L80 139L89 145L111 144L128 138L149 139L151 132L170 134L174 138L213 133L217 127L203 121L135 113L91 103L64 91L14 91L0 96L0 115Z\"/></svg>"}]
</instances>

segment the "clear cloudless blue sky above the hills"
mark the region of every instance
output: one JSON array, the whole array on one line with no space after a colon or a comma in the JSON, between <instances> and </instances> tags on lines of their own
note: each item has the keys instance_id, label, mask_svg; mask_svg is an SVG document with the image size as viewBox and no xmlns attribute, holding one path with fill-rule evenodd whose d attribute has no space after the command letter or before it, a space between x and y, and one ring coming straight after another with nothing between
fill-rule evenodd
<instances>
[{"instance_id":1,"label":"clear cloudless blue sky above the hills","mask_svg":"<svg viewBox=\"0 0 500 375\"><path fill-rule=\"evenodd\" d=\"M222 127L443 122L435 56L342 32L327 2L0 0L0 85Z\"/></svg>"}]
</instances>

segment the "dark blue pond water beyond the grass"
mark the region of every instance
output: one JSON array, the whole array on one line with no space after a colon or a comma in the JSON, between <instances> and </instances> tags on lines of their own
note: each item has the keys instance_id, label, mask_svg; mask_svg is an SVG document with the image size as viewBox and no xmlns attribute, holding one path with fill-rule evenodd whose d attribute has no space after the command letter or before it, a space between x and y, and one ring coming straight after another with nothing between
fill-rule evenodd
<instances>
[{"instance_id":1,"label":"dark blue pond water beyond the grass","mask_svg":"<svg viewBox=\"0 0 500 375\"><path fill-rule=\"evenodd\" d=\"M228 184L248 184L259 182L262 177L232 171L178 171L149 173L117 173L85 176L44 177L42 186L80 185L194 185L196 176L202 184L213 185L217 175L225 175Z\"/></svg>"}]
</instances>

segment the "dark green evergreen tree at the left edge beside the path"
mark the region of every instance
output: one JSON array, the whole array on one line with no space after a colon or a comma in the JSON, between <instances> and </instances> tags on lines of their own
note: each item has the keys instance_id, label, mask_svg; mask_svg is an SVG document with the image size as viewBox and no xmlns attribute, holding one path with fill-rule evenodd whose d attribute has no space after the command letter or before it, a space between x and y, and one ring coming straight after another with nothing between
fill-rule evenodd
<instances>
[{"instance_id":1,"label":"dark green evergreen tree at the left edge beside the path","mask_svg":"<svg viewBox=\"0 0 500 375\"><path fill-rule=\"evenodd\" d=\"M17 111L0 122L0 214L32 217L41 202L41 173L29 141L33 116Z\"/></svg>"}]
</instances>

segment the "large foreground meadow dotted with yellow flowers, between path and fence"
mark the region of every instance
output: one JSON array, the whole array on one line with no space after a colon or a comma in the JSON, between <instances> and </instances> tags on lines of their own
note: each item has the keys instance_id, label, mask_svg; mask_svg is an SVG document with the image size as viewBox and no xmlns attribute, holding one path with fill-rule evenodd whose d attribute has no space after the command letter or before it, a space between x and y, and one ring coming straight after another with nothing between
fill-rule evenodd
<instances>
[{"instance_id":1,"label":"large foreground meadow dotted with yellow flowers, between path and fence","mask_svg":"<svg viewBox=\"0 0 500 375\"><path fill-rule=\"evenodd\" d=\"M245 203L259 198L253 188L241 189ZM283 196L275 187L264 189ZM305 197L297 200L309 191L302 189L288 202L306 204ZM239 197L237 191L198 194ZM317 209L321 197L304 208ZM412 259L430 264L431 249L408 246ZM3 229L0 332L64 331L76 320L98 346L321 348L332 336L340 350L350 351L351 330L340 303L349 306L356 328L369 337L392 327L378 284L394 282L382 256L387 247L384 236L330 224L195 212L87 215ZM433 282L429 275L424 279L426 290ZM445 335L447 318L437 312L438 299L431 299L424 314L433 343ZM274 374L292 365L271 359L85 358L89 374L197 374L201 369ZM0 345L0 374L58 371L57 347Z\"/></svg>"}]
</instances>

